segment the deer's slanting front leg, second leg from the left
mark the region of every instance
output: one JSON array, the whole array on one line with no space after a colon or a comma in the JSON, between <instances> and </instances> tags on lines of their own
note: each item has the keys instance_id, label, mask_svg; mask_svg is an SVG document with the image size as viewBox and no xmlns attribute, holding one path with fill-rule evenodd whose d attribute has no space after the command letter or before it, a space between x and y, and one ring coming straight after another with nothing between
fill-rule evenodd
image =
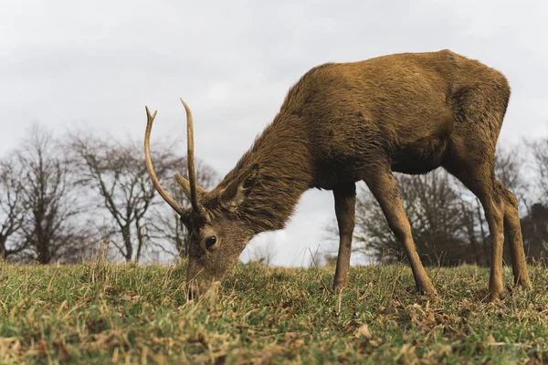
<instances>
[{"instance_id":1,"label":"deer's slanting front leg, second leg from the left","mask_svg":"<svg viewBox=\"0 0 548 365\"><path fill-rule=\"evenodd\" d=\"M381 205L390 229L404 246L413 276L415 276L418 292L435 295L436 289L428 278L416 252L415 242L411 235L411 224L409 224L404 205L397 191L394 175L389 169L382 169L370 172L364 181Z\"/></svg>"}]
</instances>

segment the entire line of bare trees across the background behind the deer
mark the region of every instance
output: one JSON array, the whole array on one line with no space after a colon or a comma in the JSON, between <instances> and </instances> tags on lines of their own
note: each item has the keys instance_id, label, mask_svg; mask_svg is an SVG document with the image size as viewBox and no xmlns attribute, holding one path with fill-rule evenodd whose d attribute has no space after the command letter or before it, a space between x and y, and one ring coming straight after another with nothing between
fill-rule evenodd
<instances>
[{"instance_id":1,"label":"entire line of bare trees across the background behind the deer","mask_svg":"<svg viewBox=\"0 0 548 365\"><path fill-rule=\"evenodd\" d=\"M186 176L174 141L154 141L158 178L189 206L173 176ZM197 183L213 188L219 175L196 162ZM499 148L495 174L520 201L525 252L548 256L548 140ZM490 265L490 236L478 199L442 169L426 175L395 174L413 236L425 265ZM336 224L328 237L338 242ZM112 260L184 257L184 224L153 188L142 141L72 131L56 136L33 126L14 151L0 159L0 258L16 262L73 263L100 249ZM275 243L274 243L275 245ZM375 262L405 259L373 195L360 185L353 250ZM326 257L336 249L328 250ZM509 262L509 250L504 259Z\"/></svg>"}]
</instances>

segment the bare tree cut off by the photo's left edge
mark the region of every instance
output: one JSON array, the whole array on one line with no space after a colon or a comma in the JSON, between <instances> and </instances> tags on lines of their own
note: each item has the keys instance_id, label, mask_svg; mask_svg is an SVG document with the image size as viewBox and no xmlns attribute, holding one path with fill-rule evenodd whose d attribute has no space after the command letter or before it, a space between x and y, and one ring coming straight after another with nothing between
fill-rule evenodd
<instances>
[{"instance_id":1,"label":"bare tree cut off by the photo's left edge","mask_svg":"<svg viewBox=\"0 0 548 365\"><path fill-rule=\"evenodd\" d=\"M25 217L21 172L14 159L5 159L0 162L0 259L26 248L26 240L18 235Z\"/></svg>"}]
</instances>

